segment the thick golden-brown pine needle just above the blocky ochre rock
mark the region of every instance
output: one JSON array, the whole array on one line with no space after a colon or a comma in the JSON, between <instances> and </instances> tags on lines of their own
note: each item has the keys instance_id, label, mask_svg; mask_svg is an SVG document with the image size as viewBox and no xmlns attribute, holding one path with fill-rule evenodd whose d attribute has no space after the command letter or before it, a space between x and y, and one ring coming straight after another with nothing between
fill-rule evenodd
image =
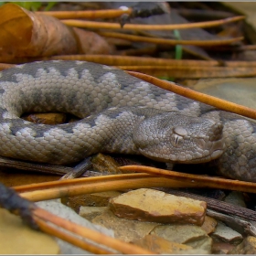
<instances>
[{"instance_id":1,"label":"thick golden-brown pine needle just above the blocky ochre rock","mask_svg":"<svg viewBox=\"0 0 256 256\"><path fill-rule=\"evenodd\" d=\"M142 176L140 176L142 175ZM189 182L175 181L163 177L155 177L145 174L133 174L128 177L127 175L115 175L118 177L116 180L104 180L88 182L86 179L91 180L93 177L80 178L83 179L84 183L78 181L74 182L72 185L63 186L61 181L58 185L53 185L46 189L36 190L37 187L34 187L34 191L22 192L21 197L25 197L30 201L42 201L55 199L60 197L74 197L83 194L97 193L104 191L112 191L119 189L135 189L141 187L204 187L205 185L196 184ZM77 179L76 179L77 180ZM79 180L79 179L78 179ZM44 183L44 184L47 184ZM13 187L16 189L16 192L19 191L19 187ZM39 188L38 188L39 189Z\"/></svg>"}]
</instances>

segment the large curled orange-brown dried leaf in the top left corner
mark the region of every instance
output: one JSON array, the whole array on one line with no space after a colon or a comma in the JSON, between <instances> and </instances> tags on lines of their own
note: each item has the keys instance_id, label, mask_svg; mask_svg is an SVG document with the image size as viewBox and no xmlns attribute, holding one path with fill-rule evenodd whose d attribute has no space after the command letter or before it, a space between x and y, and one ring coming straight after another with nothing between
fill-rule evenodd
<instances>
[{"instance_id":1,"label":"large curled orange-brown dried leaf in the top left corner","mask_svg":"<svg viewBox=\"0 0 256 256\"><path fill-rule=\"evenodd\" d=\"M37 57L75 54L73 31L51 16L38 15L15 4L0 7L0 55Z\"/></svg>"}]
</instances>

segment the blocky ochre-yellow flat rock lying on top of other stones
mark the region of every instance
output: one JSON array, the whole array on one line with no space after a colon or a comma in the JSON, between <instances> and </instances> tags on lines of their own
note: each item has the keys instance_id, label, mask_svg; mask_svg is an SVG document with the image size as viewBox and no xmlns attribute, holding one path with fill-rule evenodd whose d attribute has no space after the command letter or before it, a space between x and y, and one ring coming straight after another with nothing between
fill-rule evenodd
<instances>
[{"instance_id":1,"label":"blocky ochre-yellow flat rock lying on top of other stones","mask_svg":"<svg viewBox=\"0 0 256 256\"><path fill-rule=\"evenodd\" d=\"M192 223L202 225L207 204L187 197L176 197L155 189L141 188L114 197L109 204L121 218L159 223Z\"/></svg>"}]
</instances>

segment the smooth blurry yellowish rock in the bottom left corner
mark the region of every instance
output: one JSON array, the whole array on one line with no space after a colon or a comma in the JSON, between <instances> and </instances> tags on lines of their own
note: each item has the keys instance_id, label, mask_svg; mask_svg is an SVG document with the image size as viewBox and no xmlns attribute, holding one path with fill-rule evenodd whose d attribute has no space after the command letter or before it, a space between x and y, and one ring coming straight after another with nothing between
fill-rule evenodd
<instances>
[{"instance_id":1,"label":"smooth blurry yellowish rock in the bottom left corner","mask_svg":"<svg viewBox=\"0 0 256 256\"><path fill-rule=\"evenodd\" d=\"M0 254L59 254L51 236L30 229L22 220L0 208Z\"/></svg>"}]
</instances>

